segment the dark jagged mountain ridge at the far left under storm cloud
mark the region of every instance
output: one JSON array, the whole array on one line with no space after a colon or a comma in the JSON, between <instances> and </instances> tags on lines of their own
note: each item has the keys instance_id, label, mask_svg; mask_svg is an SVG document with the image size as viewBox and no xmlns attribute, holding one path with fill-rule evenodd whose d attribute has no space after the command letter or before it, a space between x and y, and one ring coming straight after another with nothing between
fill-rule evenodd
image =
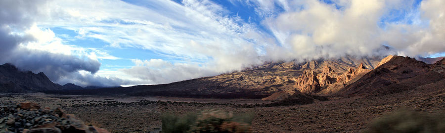
<instances>
[{"instance_id":1,"label":"dark jagged mountain ridge at the far left under storm cloud","mask_svg":"<svg viewBox=\"0 0 445 133\"><path fill-rule=\"evenodd\" d=\"M14 65L0 65L0 92L29 92L39 90L60 90L44 73L19 71Z\"/></svg>"}]
</instances>

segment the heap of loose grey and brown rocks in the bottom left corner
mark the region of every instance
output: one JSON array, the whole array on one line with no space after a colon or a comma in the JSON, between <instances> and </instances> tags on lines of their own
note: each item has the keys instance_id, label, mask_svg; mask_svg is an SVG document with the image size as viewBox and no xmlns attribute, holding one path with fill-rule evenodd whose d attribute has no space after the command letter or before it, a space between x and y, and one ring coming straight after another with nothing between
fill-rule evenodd
<instances>
[{"instance_id":1,"label":"heap of loose grey and brown rocks in the bottom left corner","mask_svg":"<svg viewBox=\"0 0 445 133\"><path fill-rule=\"evenodd\" d=\"M59 107L51 110L34 102L6 102L0 108L0 133L109 133L85 125Z\"/></svg>"}]
</instances>

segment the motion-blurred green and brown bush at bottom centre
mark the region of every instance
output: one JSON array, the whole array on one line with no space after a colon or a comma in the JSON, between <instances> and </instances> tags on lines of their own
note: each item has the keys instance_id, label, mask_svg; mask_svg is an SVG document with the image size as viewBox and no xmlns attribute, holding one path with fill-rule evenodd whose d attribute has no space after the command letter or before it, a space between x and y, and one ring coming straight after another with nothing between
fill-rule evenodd
<instances>
[{"instance_id":1,"label":"motion-blurred green and brown bush at bottom centre","mask_svg":"<svg viewBox=\"0 0 445 133\"><path fill-rule=\"evenodd\" d=\"M219 109L178 116L161 115L162 133L252 133L253 114L234 115Z\"/></svg>"}]
</instances>

